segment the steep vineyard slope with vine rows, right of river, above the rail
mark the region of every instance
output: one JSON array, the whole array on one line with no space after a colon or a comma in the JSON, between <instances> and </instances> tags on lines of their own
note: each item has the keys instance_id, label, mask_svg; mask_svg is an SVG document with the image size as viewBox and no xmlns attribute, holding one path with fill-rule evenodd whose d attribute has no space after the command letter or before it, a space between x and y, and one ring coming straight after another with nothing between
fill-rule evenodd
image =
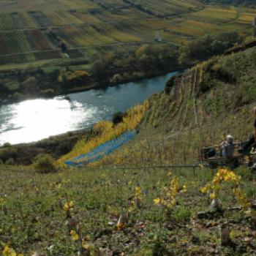
<instances>
[{"instance_id":1,"label":"steep vineyard slope with vine rows, right of river, above the rail","mask_svg":"<svg viewBox=\"0 0 256 256\"><path fill-rule=\"evenodd\" d=\"M171 79L149 99L138 140L99 164L197 162L201 147L253 132L256 48L219 56Z\"/></svg>"}]
</instances>

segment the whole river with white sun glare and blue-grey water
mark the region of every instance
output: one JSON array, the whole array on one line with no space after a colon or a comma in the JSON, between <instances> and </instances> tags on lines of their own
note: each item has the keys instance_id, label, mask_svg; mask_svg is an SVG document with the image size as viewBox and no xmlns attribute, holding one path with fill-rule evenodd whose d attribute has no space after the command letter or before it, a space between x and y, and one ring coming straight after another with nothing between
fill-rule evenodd
<instances>
[{"instance_id":1,"label":"whole river with white sun glare and blue-grey water","mask_svg":"<svg viewBox=\"0 0 256 256\"><path fill-rule=\"evenodd\" d=\"M112 118L162 91L177 72L157 78L83 91L53 99L29 99L0 106L0 145L42 140L52 135L91 127Z\"/></svg>"}]
</instances>

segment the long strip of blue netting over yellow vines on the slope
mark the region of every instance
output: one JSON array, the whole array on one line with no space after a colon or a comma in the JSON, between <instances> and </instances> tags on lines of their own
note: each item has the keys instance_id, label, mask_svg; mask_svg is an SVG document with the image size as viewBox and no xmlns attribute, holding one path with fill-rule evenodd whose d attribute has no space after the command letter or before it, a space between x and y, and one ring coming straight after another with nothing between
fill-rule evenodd
<instances>
[{"instance_id":1,"label":"long strip of blue netting over yellow vines on the slope","mask_svg":"<svg viewBox=\"0 0 256 256\"><path fill-rule=\"evenodd\" d=\"M132 140L132 138L135 137L136 133L136 130L133 130L132 132L124 132L118 138L102 143L100 146L94 148L89 153L81 154L78 157L66 161L65 164L72 167L79 167L90 162L96 162L99 159L107 156L108 154L111 154L113 151L123 146L129 140Z\"/></svg>"}]
</instances>

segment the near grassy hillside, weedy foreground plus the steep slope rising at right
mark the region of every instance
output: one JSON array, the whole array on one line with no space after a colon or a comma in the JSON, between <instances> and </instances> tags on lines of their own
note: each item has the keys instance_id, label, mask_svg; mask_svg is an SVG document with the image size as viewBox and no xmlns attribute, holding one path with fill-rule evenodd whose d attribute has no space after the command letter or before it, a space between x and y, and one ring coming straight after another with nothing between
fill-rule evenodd
<instances>
[{"instance_id":1,"label":"near grassy hillside, weedy foreground plus the steep slope rising at right","mask_svg":"<svg viewBox=\"0 0 256 256\"><path fill-rule=\"evenodd\" d=\"M148 99L138 137L94 167L0 165L2 254L254 255L255 173L154 165L195 163L227 133L248 137L255 63L251 48L170 80ZM226 225L231 241L220 235Z\"/></svg>"}]
</instances>

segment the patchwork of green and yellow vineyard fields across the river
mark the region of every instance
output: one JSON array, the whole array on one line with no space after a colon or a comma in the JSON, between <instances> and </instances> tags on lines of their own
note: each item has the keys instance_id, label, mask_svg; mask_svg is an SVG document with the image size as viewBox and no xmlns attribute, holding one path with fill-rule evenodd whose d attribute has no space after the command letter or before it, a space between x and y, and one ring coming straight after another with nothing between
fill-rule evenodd
<instances>
[{"instance_id":1,"label":"patchwork of green and yellow vineyard fields across the river","mask_svg":"<svg viewBox=\"0 0 256 256\"><path fill-rule=\"evenodd\" d=\"M61 60L61 42L78 58L135 42L180 45L208 32L245 33L255 16L255 9L196 0L0 0L0 64Z\"/></svg>"}]
</instances>

